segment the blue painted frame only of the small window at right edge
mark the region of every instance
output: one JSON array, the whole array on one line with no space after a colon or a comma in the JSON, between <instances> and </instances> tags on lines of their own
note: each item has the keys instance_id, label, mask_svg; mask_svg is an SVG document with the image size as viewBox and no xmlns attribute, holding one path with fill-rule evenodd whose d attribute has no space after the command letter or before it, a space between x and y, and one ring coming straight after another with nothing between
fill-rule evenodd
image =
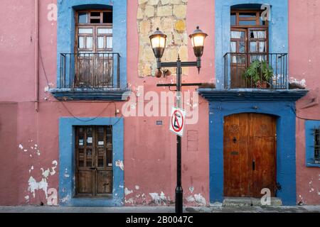
<instances>
[{"instance_id":1,"label":"blue painted frame only of the small window at right edge","mask_svg":"<svg viewBox=\"0 0 320 227\"><path fill-rule=\"evenodd\" d=\"M306 167L320 167L314 163L314 128L320 128L320 121L306 121Z\"/></svg>"}]
</instances>

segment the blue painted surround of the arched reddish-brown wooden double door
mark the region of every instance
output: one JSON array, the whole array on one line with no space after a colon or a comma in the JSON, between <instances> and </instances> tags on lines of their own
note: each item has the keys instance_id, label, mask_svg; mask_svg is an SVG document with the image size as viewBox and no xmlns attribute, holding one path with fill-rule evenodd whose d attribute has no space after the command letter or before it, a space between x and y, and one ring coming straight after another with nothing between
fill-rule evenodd
<instances>
[{"instance_id":1,"label":"blue painted surround of the arched reddish-brown wooden double door","mask_svg":"<svg viewBox=\"0 0 320 227\"><path fill-rule=\"evenodd\" d=\"M255 109L254 107L257 107ZM277 196L284 205L296 203L296 116L294 101L210 101L209 103L210 202L223 196L223 122L225 116L240 113L277 117Z\"/></svg>"}]
</instances>

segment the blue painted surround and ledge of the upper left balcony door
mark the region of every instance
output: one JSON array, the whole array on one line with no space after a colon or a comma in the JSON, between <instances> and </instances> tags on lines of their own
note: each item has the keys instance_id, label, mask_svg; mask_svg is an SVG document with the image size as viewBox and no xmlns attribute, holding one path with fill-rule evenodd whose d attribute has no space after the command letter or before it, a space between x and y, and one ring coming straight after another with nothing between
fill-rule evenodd
<instances>
[{"instance_id":1,"label":"blue painted surround and ledge of the upper left balcony door","mask_svg":"<svg viewBox=\"0 0 320 227\"><path fill-rule=\"evenodd\" d=\"M103 89L71 89L61 88L60 68L61 53L73 53L75 49L75 11L86 9L111 9L113 52L119 54L119 79L116 88ZM72 100L115 100L121 101L127 92L127 0L58 0L58 31L57 31L57 89L50 92L57 99L70 97ZM73 62L71 62L72 64ZM69 64L67 62L67 64ZM69 69L69 67L67 67ZM73 69L70 67L70 72ZM68 73L67 73L68 74ZM70 76L65 76L65 80Z\"/></svg>"}]
</instances>

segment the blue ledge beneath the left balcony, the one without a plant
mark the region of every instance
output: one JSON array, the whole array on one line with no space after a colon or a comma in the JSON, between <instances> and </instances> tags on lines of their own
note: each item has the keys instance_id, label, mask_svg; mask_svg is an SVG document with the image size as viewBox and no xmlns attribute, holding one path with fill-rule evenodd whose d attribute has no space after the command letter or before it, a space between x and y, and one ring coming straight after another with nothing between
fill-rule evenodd
<instances>
[{"instance_id":1,"label":"blue ledge beneath the left balcony, the one without a plant","mask_svg":"<svg viewBox=\"0 0 320 227\"><path fill-rule=\"evenodd\" d=\"M107 88L107 89L50 89L55 99L60 101L77 101L77 100L100 100L100 101L125 101L127 100L130 90Z\"/></svg>"}]
</instances>

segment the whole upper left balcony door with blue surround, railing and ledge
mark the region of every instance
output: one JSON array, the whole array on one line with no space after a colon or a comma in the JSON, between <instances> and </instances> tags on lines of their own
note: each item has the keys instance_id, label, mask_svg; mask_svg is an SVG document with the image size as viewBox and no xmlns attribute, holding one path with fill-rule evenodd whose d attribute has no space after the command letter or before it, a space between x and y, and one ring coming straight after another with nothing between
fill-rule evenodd
<instances>
[{"instance_id":1,"label":"whole upper left balcony door with blue surround, railing and ledge","mask_svg":"<svg viewBox=\"0 0 320 227\"><path fill-rule=\"evenodd\" d=\"M125 100L127 0L58 0L57 35L56 99Z\"/></svg>"}]
</instances>

